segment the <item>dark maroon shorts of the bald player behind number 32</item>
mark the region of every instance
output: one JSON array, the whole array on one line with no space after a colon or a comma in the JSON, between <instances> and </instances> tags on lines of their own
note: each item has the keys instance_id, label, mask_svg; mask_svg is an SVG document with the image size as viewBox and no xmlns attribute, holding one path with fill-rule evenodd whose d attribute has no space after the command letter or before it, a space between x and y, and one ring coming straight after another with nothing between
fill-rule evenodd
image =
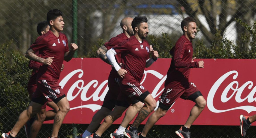
<instances>
[{"instance_id":1,"label":"dark maroon shorts of the bald player behind number 32","mask_svg":"<svg viewBox=\"0 0 256 138\"><path fill-rule=\"evenodd\" d=\"M113 72L111 70L108 77L108 92L104 98L102 106L112 110L116 105L117 96L119 95L120 91L119 76L116 71Z\"/></svg>"}]
</instances>

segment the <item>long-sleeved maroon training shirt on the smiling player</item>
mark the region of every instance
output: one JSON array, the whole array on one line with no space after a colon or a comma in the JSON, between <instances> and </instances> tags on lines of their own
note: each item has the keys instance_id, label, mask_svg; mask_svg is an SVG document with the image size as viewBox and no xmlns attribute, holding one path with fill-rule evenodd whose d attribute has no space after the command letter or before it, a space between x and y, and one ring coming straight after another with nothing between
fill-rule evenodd
<instances>
[{"instance_id":1,"label":"long-sleeved maroon training shirt on the smiling player","mask_svg":"<svg viewBox=\"0 0 256 138\"><path fill-rule=\"evenodd\" d=\"M197 61L192 62L192 42L185 35L182 35L170 50L170 53L173 55L173 58L167 72L165 88L189 88L190 68L199 67Z\"/></svg>"}]
</instances>

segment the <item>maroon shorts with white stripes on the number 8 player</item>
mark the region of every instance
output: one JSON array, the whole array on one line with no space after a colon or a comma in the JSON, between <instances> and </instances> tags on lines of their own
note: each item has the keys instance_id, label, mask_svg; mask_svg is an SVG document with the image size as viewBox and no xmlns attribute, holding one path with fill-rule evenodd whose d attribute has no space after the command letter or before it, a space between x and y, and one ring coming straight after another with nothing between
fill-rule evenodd
<instances>
[{"instance_id":1,"label":"maroon shorts with white stripes on the number 8 player","mask_svg":"<svg viewBox=\"0 0 256 138\"><path fill-rule=\"evenodd\" d=\"M58 103L64 97L65 94L57 80L38 80L32 101L44 105L47 101Z\"/></svg>"}]
</instances>

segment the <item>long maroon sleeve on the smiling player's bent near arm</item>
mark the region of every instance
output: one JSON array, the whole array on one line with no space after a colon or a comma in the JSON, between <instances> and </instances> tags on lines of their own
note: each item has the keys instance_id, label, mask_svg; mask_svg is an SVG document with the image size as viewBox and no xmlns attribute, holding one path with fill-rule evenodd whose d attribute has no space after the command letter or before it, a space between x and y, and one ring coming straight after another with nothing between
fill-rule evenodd
<instances>
[{"instance_id":1,"label":"long maroon sleeve on the smiling player's bent near arm","mask_svg":"<svg viewBox=\"0 0 256 138\"><path fill-rule=\"evenodd\" d=\"M177 68L195 68L197 66L197 62L186 62L182 61L183 54L186 50L186 42L180 42L175 45L174 48L174 63ZM192 60L192 59L191 59Z\"/></svg>"}]
</instances>

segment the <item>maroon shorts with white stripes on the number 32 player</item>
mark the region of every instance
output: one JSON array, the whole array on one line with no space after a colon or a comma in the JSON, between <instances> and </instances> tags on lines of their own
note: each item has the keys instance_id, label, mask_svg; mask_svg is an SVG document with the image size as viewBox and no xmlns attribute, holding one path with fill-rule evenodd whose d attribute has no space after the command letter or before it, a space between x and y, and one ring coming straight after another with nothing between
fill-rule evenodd
<instances>
[{"instance_id":1,"label":"maroon shorts with white stripes on the number 32 player","mask_svg":"<svg viewBox=\"0 0 256 138\"><path fill-rule=\"evenodd\" d=\"M129 104L133 104L134 101L139 100L144 102L144 99L150 94L146 88L144 88L138 82L120 83L121 93L117 100L127 101Z\"/></svg>"}]
</instances>

